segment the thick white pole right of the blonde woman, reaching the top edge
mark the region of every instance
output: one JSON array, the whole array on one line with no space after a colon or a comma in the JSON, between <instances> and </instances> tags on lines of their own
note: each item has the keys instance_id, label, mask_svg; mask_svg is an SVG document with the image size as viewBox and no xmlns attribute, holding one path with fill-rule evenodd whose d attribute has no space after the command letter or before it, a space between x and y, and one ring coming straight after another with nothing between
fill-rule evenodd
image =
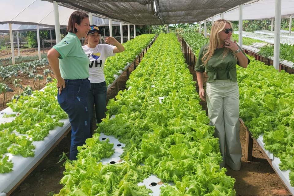
<instances>
[{"instance_id":1,"label":"thick white pole right of the blonde woman, reaching the top edge","mask_svg":"<svg viewBox=\"0 0 294 196\"><path fill-rule=\"evenodd\" d=\"M275 7L275 37L273 45L273 66L279 70L280 64L280 34L281 34L281 0L276 0Z\"/></svg>"}]
</instances>

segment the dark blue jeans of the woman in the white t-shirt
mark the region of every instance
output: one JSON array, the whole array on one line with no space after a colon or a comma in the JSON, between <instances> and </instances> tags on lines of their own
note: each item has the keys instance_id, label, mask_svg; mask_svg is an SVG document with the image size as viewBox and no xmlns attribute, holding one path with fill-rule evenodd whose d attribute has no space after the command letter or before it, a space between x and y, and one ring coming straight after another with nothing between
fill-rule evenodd
<instances>
[{"instance_id":1,"label":"dark blue jeans of the woman in the white t-shirt","mask_svg":"<svg viewBox=\"0 0 294 196\"><path fill-rule=\"evenodd\" d=\"M105 118L107 86L106 81L100 83L90 83L90 93L88 96L88 108L90 115L90 131L93 135L93 117L95 104L96 123L101 123L101 119Z\"/></svg>"}]
</instances>

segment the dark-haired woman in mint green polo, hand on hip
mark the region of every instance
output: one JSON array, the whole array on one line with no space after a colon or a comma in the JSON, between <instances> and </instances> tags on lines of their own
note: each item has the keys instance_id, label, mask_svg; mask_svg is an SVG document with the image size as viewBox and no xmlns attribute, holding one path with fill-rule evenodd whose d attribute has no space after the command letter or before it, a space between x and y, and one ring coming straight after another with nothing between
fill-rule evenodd
<instances>
[{"instance_id":1,"label":"dark-haired woman in mint green polo, hand on hip","mask_svg":"<svg viewBox=\"0 0 294 196\"><path fill-rule=\"evenodd\" d=\"M89 58L80 42L89 30L88 14L73 12L68 21L68 34L47 55L57 79L58 103L70 119L70 160L77 159L77 146L82 146L91 137L88 112Z\"/></svg>"}]
</instances>

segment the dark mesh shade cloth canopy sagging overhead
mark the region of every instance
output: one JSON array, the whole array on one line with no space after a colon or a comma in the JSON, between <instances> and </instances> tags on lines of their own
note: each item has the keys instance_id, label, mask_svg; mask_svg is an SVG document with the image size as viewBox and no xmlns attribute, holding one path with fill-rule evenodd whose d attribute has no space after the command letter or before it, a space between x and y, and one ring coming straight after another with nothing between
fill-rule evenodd
<instances>
[{"instance_id":1,"label":"dark mesh shade cloth canopy sagging overhead","mask_svg":"<svg viewBox=\"0 0 294 196\"><path fill-rule=\"evenodd\" d=\"M51 0L43 0L49 1ZM249 0L57 0L63 6L135 25L193 23Z\"/></svg>"}]
</instances>

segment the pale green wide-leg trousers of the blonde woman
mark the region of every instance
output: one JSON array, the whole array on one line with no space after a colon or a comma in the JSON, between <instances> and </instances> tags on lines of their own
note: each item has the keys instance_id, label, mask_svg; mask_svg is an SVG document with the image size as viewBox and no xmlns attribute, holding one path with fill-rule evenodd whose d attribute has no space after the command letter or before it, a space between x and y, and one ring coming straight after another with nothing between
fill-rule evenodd
<instances>
[{"instance_id":1,"label":"pale green wide-leg trousers of the blonde woman","mask_svg":"<svg viewBox=\"0 0 294 196\"><path fill-rule=\"evenodd\" d=\"M233 170L240 170L242 149L239 123L239 87L231 80L206 83L206 101L209 125L215 126L214 137L219 138L220 153Z\"/></svg>"}]
</instances>

